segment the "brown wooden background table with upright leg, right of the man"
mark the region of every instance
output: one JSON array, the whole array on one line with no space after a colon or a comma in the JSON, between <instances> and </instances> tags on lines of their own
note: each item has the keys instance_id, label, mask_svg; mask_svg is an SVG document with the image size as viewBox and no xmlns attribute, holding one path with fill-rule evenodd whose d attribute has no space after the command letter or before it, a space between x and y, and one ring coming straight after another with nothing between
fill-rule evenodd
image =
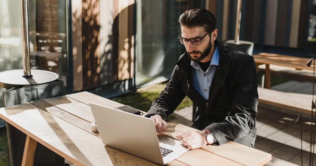
<instances>
[{"instance_id":1,"label":"brown wooden background table with upright leg, right of the man","mask_svg":"<svg viewBox=\"0 0 316 166\"><path fill-rule=\"evenodd\" d=\"M288 55L272 54L272 53L259 53L253 55L258 72L258 66L265 64L264 88L271 88L271 74L270 65L280 65L286 67L293 67L296 70L311 70L313 71L313 63L311 67L306 66L310 58L294 57Z\"/></svg>"}]
</instances>

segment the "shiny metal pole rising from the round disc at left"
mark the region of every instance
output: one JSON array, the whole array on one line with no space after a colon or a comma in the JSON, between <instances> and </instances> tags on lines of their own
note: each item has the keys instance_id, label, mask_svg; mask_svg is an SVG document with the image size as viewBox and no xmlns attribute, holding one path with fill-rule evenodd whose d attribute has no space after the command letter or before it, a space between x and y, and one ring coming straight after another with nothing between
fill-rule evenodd
<instances>
[{"instance_id":1,"label":"shiny metal pole rising from the round disc at left","mask_svg":"<svg viewBox=\"0 0 316 166\"><path fill-rule=\"evenodd\" d=\"M21 0L22 46L23 46L23 77L32 77L30 62L30 44L28 29L28 0Z\"/></svg>"}]
</instances>

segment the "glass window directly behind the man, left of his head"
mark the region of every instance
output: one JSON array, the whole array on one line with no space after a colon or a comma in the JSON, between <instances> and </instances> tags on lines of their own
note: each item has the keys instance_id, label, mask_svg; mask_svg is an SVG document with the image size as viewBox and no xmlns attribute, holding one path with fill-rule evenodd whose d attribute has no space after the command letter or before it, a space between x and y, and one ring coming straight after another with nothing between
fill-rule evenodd
<instances>
[{"instance_id":1,"label":"glass window directly behind the man, left of his head","mask_svg":"<svg viewBox=\"0 0 316 166\"><path fill-rule=\"evenodd\" d=\"M137 1L136 86L167 80L185 47L178 40L179 15L203 1Z\"/></svg>"}]
</instances>

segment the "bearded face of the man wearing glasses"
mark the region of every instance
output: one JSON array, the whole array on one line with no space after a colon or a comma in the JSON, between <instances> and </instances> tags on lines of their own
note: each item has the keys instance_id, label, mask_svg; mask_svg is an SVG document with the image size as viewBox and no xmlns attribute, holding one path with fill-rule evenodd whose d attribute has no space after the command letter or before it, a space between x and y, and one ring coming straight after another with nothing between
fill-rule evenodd
<instances>
[{"instance_id":1,"label":"bearded face of the man wearing glasses","mask_svg":"<svg viewBox=\"0 0 316 166\"><path fill-rule=\"evenodd\" d=\"M187 28L185 26L181 26L181 37L186 39L191 38L201 38L206 34L204 27L192 27ZM185 45L185 50L192 61L199 62L203 60L209 53L212 48L212 41L209 34L207 34L203 40L201 45L193 45L191 42L188 45Z\"/></svg>"}]
</instances>

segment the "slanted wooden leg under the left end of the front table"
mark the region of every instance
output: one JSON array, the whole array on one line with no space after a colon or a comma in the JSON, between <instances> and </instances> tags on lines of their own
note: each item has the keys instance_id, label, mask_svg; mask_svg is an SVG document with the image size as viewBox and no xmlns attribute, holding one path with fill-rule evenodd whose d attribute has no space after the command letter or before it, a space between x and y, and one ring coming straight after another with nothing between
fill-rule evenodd
<instances>
[{"instance_id":1,"label":"slanted wooden leg under the left end of the front table","mask_svg":"<svg viewBox=\"0 0 316 166\"><path fill-rule=\"evenodd\" d=\"M27 135L21 164L22 166L33 166L36 145L37 141Z\"/></svg>"}]
</instances>

